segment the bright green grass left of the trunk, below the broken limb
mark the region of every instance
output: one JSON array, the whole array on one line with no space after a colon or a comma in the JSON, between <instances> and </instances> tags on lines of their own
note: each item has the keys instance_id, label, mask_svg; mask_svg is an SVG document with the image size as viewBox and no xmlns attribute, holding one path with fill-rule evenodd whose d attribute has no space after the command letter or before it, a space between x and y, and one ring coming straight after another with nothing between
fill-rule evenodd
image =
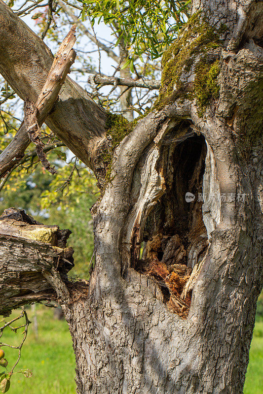
<instances>
[{"instance_id":1,"label":"bright green grass left of the trunk, below the broken limb","mask_svg":"<svg viewBox=\"0 0 263 394\"><path fill-rule=\"evenodd\" d=\"M16 316L15 311L11 317ZM31 309L27 310L29 319ZM29 368L33 375L24 377L21 373L11 377L9 394L75 394L75 355L71 336L65 321L53 319L53 310L37 307L38 339L33 324L29 326L28 337L22 348L22 356L16 370ZM9 320L9 318L7 318ZM18 326L18 324L16 325ZM5 328L1 342L17 345L22 330L14 334ZM17 350L3 348L10 369L17 358ZM7 369L8 369L7 367ZM3 369L1 368L1 371Z\"/></svg>"}]
</instances>

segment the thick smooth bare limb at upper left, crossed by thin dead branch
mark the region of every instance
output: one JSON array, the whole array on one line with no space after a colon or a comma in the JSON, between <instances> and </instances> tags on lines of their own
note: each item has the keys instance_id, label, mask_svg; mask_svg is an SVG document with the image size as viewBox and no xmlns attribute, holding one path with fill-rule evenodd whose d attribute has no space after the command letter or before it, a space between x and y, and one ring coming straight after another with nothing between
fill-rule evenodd
<instances>
[{"instance_id":1,"label":"thick smooth bare limb at upper left, crossed by thin dead branch","mask_svg":"<svg viewBox=\"0 0 263 394\"><path fill-rule=\"evenodd\" d=\"M37 102L53 59L41 38L0 0L0 73L22 99ZM67 77L45 123L89 165L105 137L106 117L84 89Z\"/></svg>"}]
</instances>

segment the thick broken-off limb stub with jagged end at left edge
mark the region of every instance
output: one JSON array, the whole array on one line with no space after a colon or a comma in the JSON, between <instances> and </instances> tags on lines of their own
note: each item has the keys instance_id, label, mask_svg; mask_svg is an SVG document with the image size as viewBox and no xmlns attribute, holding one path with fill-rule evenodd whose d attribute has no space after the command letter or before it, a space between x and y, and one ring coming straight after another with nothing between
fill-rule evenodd
<instances>
[{"instance_id":1,"label":"thick broken-off limb stub with jagged end at left edge","mask_svg":"<svg viewBox=\"0 0 263 394\"><path fill-rule=\"evenodd\" d=\"M67 272L74 266L71 231L36 222L23 210L6 209L0 216L0 314L42 300L63 301ZM55 291L47 277L64 289Z\"/></svg>"}]
</instances>

